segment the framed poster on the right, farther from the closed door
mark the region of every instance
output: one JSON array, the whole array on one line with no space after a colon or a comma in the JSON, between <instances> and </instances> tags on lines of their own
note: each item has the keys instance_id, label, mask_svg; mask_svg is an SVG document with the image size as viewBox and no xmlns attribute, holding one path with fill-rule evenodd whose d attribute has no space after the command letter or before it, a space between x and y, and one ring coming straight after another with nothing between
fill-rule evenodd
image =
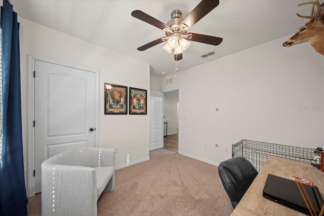
<instances>
[{"instance_id":1,"label":"framed poster on the right, farther from the closed door","mask_svg":"<svg viewBox=\"0 0 324 216\"><path fill-rule=\"evenodd\" d=\"M129 93L130 114L147 114L147 91L130 87Z\"/></svg>"}]
</instances>

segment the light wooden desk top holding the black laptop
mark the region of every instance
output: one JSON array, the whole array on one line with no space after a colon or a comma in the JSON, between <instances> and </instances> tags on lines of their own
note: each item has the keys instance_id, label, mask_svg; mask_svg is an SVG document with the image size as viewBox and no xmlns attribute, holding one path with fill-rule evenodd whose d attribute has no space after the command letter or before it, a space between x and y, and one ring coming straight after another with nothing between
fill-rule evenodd
<instances>
[{"instance_id":1,"label":"light wooden desk top holding the black laptop","mask_svg":"<svg viewBox=\"0 0 324 216\"><path fill-rule=\"evenodd\" d=\"M309 163L269 156L258 176L231 215L306 215L262 196L263 187L268 174L286 179L290 179L291 176L309 179L313 182L314 186L318 187L322 198L324 198L324 172L316 169Z\"/></svg>"}]
</instances>

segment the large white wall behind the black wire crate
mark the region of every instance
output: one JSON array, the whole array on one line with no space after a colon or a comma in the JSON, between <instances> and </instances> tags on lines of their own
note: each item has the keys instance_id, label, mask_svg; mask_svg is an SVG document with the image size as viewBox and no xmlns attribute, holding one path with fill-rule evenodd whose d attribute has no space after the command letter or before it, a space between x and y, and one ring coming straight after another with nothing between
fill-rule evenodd
<instances>
[{"instance_id":1,"label":"large white wall behind the black wire crate","mask_svg":"<svg viewBox=\"0 0 324 216\"><path fill-rule=\"evenodd\" d=\"M302 109L324 105L324 56L282 47L289 37L161 78L163 92L181 90L179 153L218 164L242 139L323 147L324 111Z\"/></svg>"}]
</instances>

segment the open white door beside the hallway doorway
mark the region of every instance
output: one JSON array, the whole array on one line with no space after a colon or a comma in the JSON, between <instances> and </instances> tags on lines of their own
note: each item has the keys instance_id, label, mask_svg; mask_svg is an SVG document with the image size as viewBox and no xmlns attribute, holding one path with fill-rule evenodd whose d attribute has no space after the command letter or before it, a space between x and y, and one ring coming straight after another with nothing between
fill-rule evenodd
<instances>
[{"instance_id":1,"label":"open white door beside the hallway doorway","mask_svg":"<svg viewBox=\"0 0 324 216\"><path fill-rule=\"evenodd\" d=\"M164 147L162 105L163 93L150 91L150 151Z\"/></svg>"}]
</instances>

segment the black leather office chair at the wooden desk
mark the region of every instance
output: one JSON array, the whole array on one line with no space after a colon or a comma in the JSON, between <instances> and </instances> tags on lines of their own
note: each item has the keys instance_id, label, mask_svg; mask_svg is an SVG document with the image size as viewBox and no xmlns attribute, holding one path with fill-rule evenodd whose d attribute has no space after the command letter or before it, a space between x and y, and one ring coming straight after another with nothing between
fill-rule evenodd
<instances>
[{"instance_id":1,"label":"black leather office chair at the wooden desk","mask_svg":"<svg viewBox=\"0 0 324 216\"><path fill-rule=\"evenodd\" d=\"M233 157L221 162L218 166L218 173L233 208L258 175L255 167L244 157Z\"/></svg>"}]
</instances>

